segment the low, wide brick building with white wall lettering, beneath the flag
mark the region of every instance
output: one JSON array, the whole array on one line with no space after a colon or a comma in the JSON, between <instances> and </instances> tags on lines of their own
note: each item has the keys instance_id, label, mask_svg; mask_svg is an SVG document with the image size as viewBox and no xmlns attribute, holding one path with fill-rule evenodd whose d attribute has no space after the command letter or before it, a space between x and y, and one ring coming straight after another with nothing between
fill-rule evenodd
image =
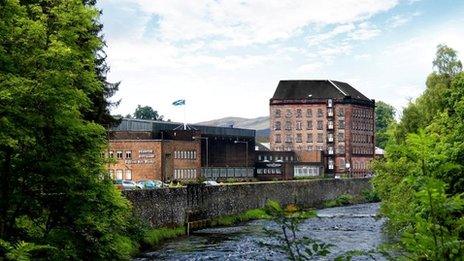
<instances>
[{"instance_id":1,"label":"low, wide brick building with white wall lettering, beneath the flag","mask_svg":"<svg viewBox=\"0 0 464 261\"><path fill-rule=\"evenodd\" d=\"M115 179L193 180L253 176L255 131L122 119L109 133ZM247 150L248 149L248 150Z\"/></svg>"}]
</instances>

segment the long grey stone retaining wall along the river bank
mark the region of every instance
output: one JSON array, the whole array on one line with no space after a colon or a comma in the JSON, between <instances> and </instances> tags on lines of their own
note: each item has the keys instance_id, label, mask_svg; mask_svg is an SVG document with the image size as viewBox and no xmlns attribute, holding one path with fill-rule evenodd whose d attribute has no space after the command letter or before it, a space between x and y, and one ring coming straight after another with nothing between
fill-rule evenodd
<instances>
[{"instance_id":1,"label":"long grey stone retaining wall along the river bank","mask_svg":"<svg viewBox=\"0 0 464 261\"><path fill-rule=\"evenodd\" d=\"M161 227L183 225L189 212L204 213L206 218L239 214L263 207L268 199L283 205L318 207L342 194L358 196L370 188L369 179L323 179L134 190L123 194L142 219Z\"/></svg>"}]
</instances>

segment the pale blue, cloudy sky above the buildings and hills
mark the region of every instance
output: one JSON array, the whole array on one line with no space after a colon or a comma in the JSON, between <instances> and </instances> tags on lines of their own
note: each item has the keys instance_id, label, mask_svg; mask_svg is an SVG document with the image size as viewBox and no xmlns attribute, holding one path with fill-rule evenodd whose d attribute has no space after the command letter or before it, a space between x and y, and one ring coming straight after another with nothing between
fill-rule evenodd
<instances>
[{"instance_id":1,"label":"pale blue, cloudy sky above the buildings and hills","mask_svg":"<svg viewBox=\"0 0 464 261\"><path fill-rule=\"evenodd\" d=\"M279 80L344 81L398 114L436 46L464 60L463 0L102 0L113 114L196 123L269 114ZM172 102L185 99L186 106Z\"/></svg>"}]
</instances>

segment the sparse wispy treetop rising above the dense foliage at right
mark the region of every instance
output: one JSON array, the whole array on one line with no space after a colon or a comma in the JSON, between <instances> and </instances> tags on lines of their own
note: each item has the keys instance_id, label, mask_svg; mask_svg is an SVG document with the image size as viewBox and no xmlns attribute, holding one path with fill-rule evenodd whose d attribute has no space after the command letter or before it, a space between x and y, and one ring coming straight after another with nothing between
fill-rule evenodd
<instances>
[{"instance_id":1,"label":"sparse wispy treetop rising above the dense foliage at right","mask_svg":"<svg viewBox=\"0 0 464 261\"><path fill-rule=\"evenodd\" d=\"M437 46L436 58L433 67L438 74L454 77L462 71L462 63L458 60L457 52L444 44Z\"/></svg>"}]
</instances>

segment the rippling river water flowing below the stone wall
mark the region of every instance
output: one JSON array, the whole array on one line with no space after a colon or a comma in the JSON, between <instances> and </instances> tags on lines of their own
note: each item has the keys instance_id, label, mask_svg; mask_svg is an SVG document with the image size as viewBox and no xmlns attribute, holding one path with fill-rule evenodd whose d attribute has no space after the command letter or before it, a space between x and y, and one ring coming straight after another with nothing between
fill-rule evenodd
<instances>
[{"instance_id":1,"label":"rippling river water flowing below the stone wall","mask_svg":"<svg viewBox=\"0 0 464 261\"><path fill-rule=\"evenodd\" d=\"M349 250L370 252L352 260L386 260L376 252L384 240L384 220L375 218L378 203L327 208L317 211L301 225L300 236L330 243L330 254L314 260L333 260ZM263 227L275 224L255 220L233 227L208 228L162 244L158 249L142 254L136 260L285 260L286 255L262 246L272 242Z\"/></svg>"}]
</instances>

